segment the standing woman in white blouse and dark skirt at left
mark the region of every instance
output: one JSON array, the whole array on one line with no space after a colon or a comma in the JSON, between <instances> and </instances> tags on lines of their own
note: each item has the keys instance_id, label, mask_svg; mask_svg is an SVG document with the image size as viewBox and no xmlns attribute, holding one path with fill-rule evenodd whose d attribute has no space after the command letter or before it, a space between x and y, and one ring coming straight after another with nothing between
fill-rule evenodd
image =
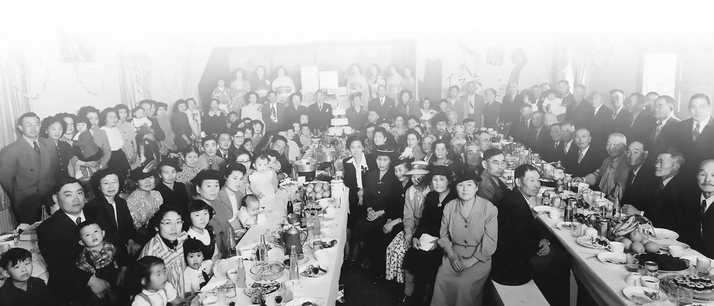
<instances>
[{"instance_id":1,"label":"standing woman in white blouse and dark skirt at left","mask_svg":"<svg viewBox=\"0 0 714 306\"><path fill-rule=\"evenodd\" d=\"M111 157L106 163L106 168L116 170L119 180L124 182L126 175L129 174L130 166L129 159L124 153L124 137L119 128L116 128L116 123L119 122L119 112L114 108L104 108L99 114L99 128L106 133L106 138L109 139L109 148L111 148Z\"/></svg>"}]
</instances>

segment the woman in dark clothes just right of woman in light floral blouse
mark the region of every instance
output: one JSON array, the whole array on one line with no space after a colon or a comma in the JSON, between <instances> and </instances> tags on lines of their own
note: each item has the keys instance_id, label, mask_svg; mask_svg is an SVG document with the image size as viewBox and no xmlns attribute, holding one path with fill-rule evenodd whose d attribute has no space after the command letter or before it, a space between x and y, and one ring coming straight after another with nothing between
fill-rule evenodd
<instances>
[{"instance_id":1,"label":"woman in dark clothes just right of woman in light floral blouse","mask_svg":"<svg viewBox=\"0 0 714 306\"><path fill-rule=\"evenodd\" d=\"M164 158L156 167L159 170L159 178L161 181L156 183L154 190L161 193L161 198L164 198L164 203L175 205L181 210L188 209L188 192L186 185L176 181L176 176L183 169L178 166L178 159Z\"/></svg>"}]
</instances>

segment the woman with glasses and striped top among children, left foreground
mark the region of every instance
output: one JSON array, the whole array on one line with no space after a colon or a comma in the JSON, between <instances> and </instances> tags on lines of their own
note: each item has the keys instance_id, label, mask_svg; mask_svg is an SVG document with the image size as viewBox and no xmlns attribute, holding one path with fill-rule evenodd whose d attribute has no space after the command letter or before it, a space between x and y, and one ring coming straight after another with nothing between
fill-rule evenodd
<instances>
[{"instance_id":1,"label":"woman with glasses and striped top among children, left foreground","mask_svg":"<svg viewBox=\"0 0 714 306\"><path fill-rule=\"evenodd\" d=\"M188 238L182 230L183 212L171 205L161 205L149 225L156 230L154 238L144 245L139 258L156 256L166 264L166 281L179 290L178 295L183 296L183 270L186 269L186 260L183 258L183 241Z\"/></svg>"}]
</instances>

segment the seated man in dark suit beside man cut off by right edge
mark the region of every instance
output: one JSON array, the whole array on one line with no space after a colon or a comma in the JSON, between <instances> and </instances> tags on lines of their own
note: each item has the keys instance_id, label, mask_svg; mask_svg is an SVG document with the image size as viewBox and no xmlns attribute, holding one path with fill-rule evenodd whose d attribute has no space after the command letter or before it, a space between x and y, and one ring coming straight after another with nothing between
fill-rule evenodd
<instances>
[{"instance_id":1,"label":"seated man in dark suit beside man cut off by right edge","mask_svg":"<svg viewBox=\"0 0 714 306\"><path fill-rule=\"evenodd\" d=\"M667 148L658 155L655 175L660 180L645 215L655 228L673 230L680 234L681 242L695 243L690 224L695 220L688 220L688 208L683 200L693 180L680 173L684 163L684 155L675 148Z\"/></svg>"}]
</instances>

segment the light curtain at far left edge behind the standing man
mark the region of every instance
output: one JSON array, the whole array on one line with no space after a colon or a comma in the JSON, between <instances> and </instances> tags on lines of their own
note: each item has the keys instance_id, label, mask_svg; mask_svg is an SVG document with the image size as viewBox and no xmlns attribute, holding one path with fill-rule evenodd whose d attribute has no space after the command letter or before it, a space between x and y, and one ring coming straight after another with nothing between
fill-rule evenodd
<instances>
[{"instance_id":1,"label":"light curtain at far left edge behind the standing man","mask_svg":"<svg viewBox=\"0 0 714 306\"><path fill-rule=\"evenodd\" d=\"M32 110L29 98L28 69L21 51L0 52L0 148L13 143L20 136L16 123L23 113ZM2 173L10 175L10 173ZM10 200L0 188L0 233L16 228Z\"/></svg>"}]
</instances>

